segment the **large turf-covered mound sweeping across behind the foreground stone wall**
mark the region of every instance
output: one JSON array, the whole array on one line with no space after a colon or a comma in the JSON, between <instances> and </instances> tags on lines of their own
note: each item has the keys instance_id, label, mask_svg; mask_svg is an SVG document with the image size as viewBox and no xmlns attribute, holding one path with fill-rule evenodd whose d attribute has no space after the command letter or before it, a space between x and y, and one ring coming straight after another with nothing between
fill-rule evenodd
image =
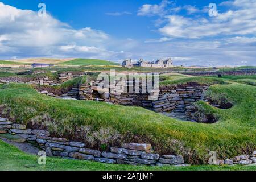
<instances>
[{"instance_id":1,"label":"large turf-covered mound sweeping across behind the foreground stone wall","mask_svg":"<svg viewBox=\"0 0 256 182\"><path fill-rule=\"evenodd\" d=\"M210 96L219 93L225 94L234 107L221 110L198 102L218 116L219 121L212 125L180 122L139 107L59 100L24 84L1 86L0 112L31 128L84 141L88 147L151 143L156 152L181 154L186 162L197 164L208 162L209 151L216 151L220 158L231 158L256 148L256 88L243 84L210 86Z\"/></svg>"}]
</instances>

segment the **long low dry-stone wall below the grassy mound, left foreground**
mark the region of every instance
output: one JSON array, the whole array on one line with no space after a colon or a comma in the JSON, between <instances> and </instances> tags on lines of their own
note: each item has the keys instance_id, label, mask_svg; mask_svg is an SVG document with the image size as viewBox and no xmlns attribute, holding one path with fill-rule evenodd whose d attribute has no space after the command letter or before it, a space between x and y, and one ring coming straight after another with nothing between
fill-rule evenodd
<instances>
[{"instance_id":1,"label":"long low dry-stone wall below the grassy mound, left foreground","mask_svg":"<svg viewBox=\"0 0 256 182\"><path fill-rule=\"evenodd\" d=\"M0 118L0 133L16 136L13 142L29 142L46 151L47 156L63 159L92 160L111 164L180 165L182 156L154 154L151 144L125 143L121 148L110 147L110 151L93 150L86 143L69 141L66 138L51 137L45 130L27 129L25 125L15 124L6 118Z\"/></svg>"}]
</instances>

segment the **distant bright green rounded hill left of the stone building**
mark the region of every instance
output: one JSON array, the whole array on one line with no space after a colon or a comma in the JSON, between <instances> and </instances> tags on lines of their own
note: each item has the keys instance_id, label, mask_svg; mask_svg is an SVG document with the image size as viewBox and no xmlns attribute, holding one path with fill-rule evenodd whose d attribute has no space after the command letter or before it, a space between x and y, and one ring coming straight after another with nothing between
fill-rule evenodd
<instances>
[{"instance_id":1,"label":"distant bright green rounded hill left of the stone building","mask_svg":"<svg viewBox=\"0 0 256 182\"><path fill-rule=\"evenodd\" d=\"M63 65L78 65L78 66L84 66L84 65L119 65L118 63L114 63L111 61L106 60L99 60L99 59L75 59L71 61L65 61L61 63Z\"/></svg>"}]
</instances>

